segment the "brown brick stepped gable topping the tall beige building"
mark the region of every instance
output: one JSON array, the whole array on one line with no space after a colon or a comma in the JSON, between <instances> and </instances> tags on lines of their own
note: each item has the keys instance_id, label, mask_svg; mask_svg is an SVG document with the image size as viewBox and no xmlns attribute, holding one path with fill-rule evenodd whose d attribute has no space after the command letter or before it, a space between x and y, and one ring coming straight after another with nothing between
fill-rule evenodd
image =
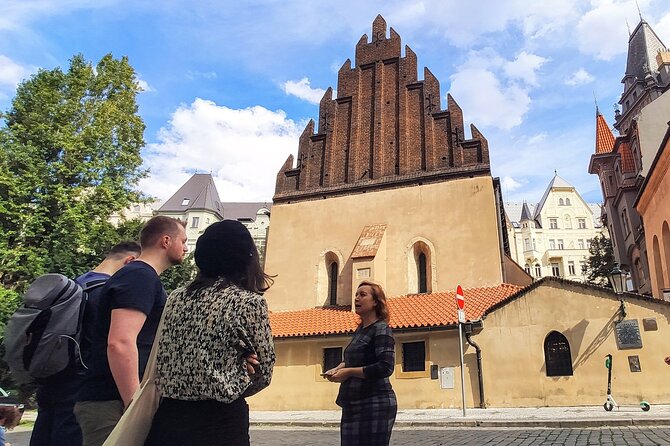
<instances>
[{"instance_id":1,"label":"brown brick stepped gable topping the tall beige building","mask_svg":"<svg viewBox=\"0 0 670 446\"><path fill-rule=\"evenodd\" d=\"M328 88L297 159L277 174L275 203L490 175L484 136L471 125L465 139L456 101L449 95L442 109L437 78L424 68L418 80L416 54L405 46L402 57L400 36L386 30L377 16L372 37L356 44L355 66L347 59L340 68L337 98Z\"/></svg>"}]
</instances>

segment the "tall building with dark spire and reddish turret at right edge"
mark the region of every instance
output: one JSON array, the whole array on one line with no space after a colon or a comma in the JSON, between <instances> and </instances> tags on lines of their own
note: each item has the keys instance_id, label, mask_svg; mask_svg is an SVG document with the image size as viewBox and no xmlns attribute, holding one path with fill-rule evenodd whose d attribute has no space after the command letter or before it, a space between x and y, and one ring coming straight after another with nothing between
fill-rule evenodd
<instances>
[{"instance_id":1,"label":"tall building with dark spire and reddish turret at right edge","mask_svg":"<svg viewBox=\"0 0 670 446\"><path fill-rule=\"evenodd\" d=\"M670 119L670 51L642 18L628 40L621 82L614 124L619 136L614 138L596 107L589 173L600 179L603 224L617 262L631 275L632 291L651 294L644 227L634 204Z\"/></svg>"}]
</instances>

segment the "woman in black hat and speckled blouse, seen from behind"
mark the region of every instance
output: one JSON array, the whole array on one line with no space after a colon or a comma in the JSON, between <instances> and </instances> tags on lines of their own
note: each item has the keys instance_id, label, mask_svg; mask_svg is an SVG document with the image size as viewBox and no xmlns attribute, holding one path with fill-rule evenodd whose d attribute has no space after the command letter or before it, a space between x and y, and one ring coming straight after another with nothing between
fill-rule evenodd
<instances>
[{"instance_id":1,"label":"woman in black hat and speckled blouse, seen from behind","mask_svg":"<svg viewBox=\"0 0 670 446\"><path fill-rule=\"evenodd\" d=\"M248 445L245 397L270 384L272 284L247 228L235 220L198 238L199 272L165 306L156 384L162 400L146 445Z\"/></svg>"}]
</instances>

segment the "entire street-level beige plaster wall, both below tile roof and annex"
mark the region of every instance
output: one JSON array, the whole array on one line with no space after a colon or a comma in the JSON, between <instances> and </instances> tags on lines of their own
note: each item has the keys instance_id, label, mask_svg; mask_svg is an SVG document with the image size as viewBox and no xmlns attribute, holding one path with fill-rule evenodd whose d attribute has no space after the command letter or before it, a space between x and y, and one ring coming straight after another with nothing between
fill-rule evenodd
<instances>
[{"instance_id":1,"label":"entire street-level beige plaster wall, both below tile roof and annex","mask_svg":"<svg viewBox=\"0 0 670 446\"><path fill-rule=\"evenodd\" d=\"M560 287L563 287L561 289ZM545 282L491 313L484 329L473 335L482 349L487 407L599 406L605 401L605 355L613 355L612 392L619 404L670 403L670 305L626 298L627 319L640 326L643 347L618 350L614 321L619 301L612 293L576 284ZM655 318L658 330L645 331L643 318ZM571 347L573 376L547 377L544 339L561 332ZM458 331L395 333L396 368L391 383L400 409L460 408L461 380ZM403 373L402 343L426 341L426 371ZM323 348L346 347L349 337L276 342L277 365L271 386L249 400L254 410L336 409L338 385L321 373ZM479 406L475 349L464 342L467 407ZM629 370L628 356L638 355L641 372ZM442 389L430 379L430 366L451 367L454 388Z\"/></svg>"}]
</instances>

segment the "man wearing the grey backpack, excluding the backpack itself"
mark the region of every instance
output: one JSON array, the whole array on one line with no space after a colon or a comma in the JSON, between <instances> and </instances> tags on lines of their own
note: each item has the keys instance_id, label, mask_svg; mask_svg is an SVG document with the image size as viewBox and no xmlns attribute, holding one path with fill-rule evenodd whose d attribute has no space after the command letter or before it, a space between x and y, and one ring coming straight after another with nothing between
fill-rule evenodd
<instances>
[{"instance_id":1,"label":"man wearing the grey backpack, excluding the backpack itself","mask_svg":"<svg viewBox=\"0 0 670 446\"><path fill-rule=\"evenodd\" d=\"M80 358L64 371L41 380L37 388L37 419L30 437L31 446L81 446L82 434L74 416L77 391L90 356L91 333L97 325L102 285L123 266L139 257L140 245L124 241L113 246L93 270L75 279L86 291L81 332ZM77 355L79 357L79 355Z\"/></svg>"}]
</instances>

